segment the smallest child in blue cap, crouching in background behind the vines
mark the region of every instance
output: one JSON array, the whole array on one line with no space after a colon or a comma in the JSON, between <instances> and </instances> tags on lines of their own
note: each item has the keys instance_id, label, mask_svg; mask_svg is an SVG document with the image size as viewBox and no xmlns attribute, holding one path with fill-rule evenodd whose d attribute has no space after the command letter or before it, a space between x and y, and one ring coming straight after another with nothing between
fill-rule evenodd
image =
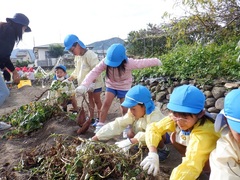
<instances>
[{"instance_id":1,"label":"smallest child in blue cap, crouching in background behind the vines","mask_svg":"<svg viewBox=\"0 0 240 180\"><path fill-rule=\"evenodd\" d=\"M50 91L48 93L48 99L54 99L57 100L60 96L62 96L62 93L66 93L67 95L70 95L70 101L72 103L73 106L73 112L78 112L78 106L77 106L77 101L75 98L75 94L73 93L75 87L73 85L72 82L67 82L64 81L65 80L65 76L67 74L67 68L64 65L58 65L55 68L55 75L57 80L53 80L52 84L51 84L51 88L54 87L54 85L57 85L58 81L61 81L62 84L60 86L60 88L56 91ZM63 84L64 83L64 84ZM67 105L68 105L68 100L67 102L61 102L61 105L63 107L64 111L67 111Z\"/></svg>"}]
</instances>

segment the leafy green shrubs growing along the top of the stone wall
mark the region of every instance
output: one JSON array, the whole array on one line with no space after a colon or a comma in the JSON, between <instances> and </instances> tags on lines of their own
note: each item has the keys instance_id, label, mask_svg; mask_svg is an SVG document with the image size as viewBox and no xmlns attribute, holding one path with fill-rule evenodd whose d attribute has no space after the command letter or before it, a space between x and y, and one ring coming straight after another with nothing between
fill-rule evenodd
<instances>
[{"instance_id":1,"label":"leafy green shrubs growing along the top of the stone wall","mask_svg":"<svg viewBox=\"0 0 240 180\"><path fill-rule=\"evenodd\" d=\"M142 77L167 76L183 79L195 79L201 84L211 83L214 79L240 78L240 64L236 62L239 50L236 41L222 44L186 45L179 43L171 51L162 55L161 67L134 70L136 81Z\"/></svg>"}]
</instances>

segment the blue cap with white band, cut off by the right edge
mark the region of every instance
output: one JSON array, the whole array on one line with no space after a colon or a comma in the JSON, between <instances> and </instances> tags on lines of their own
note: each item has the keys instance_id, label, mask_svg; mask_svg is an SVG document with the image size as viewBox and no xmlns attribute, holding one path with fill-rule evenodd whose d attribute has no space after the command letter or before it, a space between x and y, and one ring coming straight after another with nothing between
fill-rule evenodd
<instances>
[{"instance_id":1,"label":"blue cap with white band, cut off by the right edge","mask_svg":"<svg viewBox=\"0 0 240 180\"><path fill-rule=\"evenodd\" d=\"M239 104L240 104L240 89L234 89L226 95L224 99L224 110L222 110L218 115L218 116L221 116L221 115L225 116L225 118L227 118L228 125L231 127L231 129L233 129L237 133L240 133L240 105Z\"/></svg>"}]
</instances>

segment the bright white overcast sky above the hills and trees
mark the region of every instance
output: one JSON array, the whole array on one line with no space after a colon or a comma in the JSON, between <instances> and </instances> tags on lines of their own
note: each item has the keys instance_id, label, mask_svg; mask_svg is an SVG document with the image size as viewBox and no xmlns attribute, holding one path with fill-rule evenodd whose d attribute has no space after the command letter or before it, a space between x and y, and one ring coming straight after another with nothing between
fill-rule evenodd
<instances>
[{"instance_id":1,"label":"bright white overcast sky above the hills and trees","mask_svg":"<svg viewBox=\"0 0 240 180\"><path fill-rule=\"evenodd\" d=\"M8 0L0 6L0 21L15 13L25 14L30 33L15 48L32 49L63 43L75 34L84 44L113 37L126 39L131 31L160 24L165 11L173 13L173 0Z\"/></svg>"}]
</instances>

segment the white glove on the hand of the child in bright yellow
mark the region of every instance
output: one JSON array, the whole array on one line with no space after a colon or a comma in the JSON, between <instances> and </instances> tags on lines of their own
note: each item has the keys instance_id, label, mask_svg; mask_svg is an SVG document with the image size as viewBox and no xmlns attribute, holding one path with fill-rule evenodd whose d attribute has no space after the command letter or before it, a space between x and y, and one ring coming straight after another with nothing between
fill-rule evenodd
<instances>
[{"instance_id":1,"label":"white glove on the hand of the child in bright yellow","mask_svg":"<svg viewBox=\"0 0 240 180\"><path fill-rule=\"evenodd\" d=\"M141 162L140 166L143 166L143 170L148 169L148 174L156 176L159 171L159 157L155 152L149 152L148 156Z\"/></svg>"}]
</instances>

